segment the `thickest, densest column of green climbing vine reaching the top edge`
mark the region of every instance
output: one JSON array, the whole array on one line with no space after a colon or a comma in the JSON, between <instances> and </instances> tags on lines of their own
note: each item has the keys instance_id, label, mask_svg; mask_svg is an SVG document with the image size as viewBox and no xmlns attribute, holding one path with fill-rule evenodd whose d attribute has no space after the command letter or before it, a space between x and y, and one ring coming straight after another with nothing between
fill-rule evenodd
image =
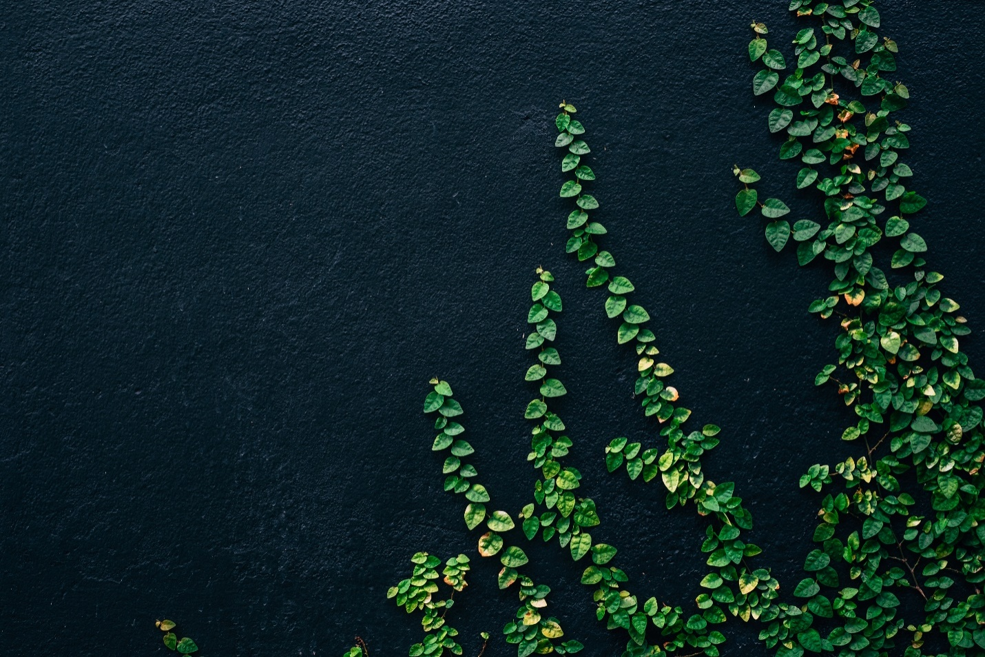
<instances>
[{"instance_id":1,"label":"thickest, densest column of green climbing vine reaching the top edge","mask_svg":"<svg viewBox=\"0 0 985 657\"><path fill-rule=\"evenodd\" d=\"M837 321L837 361L816 384L833 385L854 410L841 438L859 448L801 477L801 487L826 493L818 547L794 589L804 604L760 636L793 657L884 655L897 645L906 657L982 654L985 452L976 402L985 381L960 351L969 328L939 287L944 276L929 269L927 244L911 230L927 201L901 160L910 126L896 113L910 94L886 77L898 45L878 34L870 0L794 0L790 9L809 25L793 38L788 74L766 26L752 25L749 57L763 65L753 91L772 92L768 129L786 135L780 159L803 165L796 186L819 192L823 221L791 226L787 204L760 201L751 186L758 174L739 167L736 207L743 216L759 208L777 252L792 237L801 265L827 260L828 294L809 310Z\"/></svg>"}]
</instances>

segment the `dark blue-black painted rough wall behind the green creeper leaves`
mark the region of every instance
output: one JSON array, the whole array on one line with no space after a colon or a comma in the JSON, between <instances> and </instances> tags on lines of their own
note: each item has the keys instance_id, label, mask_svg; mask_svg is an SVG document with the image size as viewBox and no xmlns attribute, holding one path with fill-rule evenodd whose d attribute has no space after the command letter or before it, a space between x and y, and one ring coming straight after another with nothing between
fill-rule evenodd
<instances>
[{"instance_id":1,"label":"dark blue-black painted rough wall behind the green creeper leaves","mask_svg":"<svg viewBox=\"0 0 985 657\"><path fill-rule=\"evenodd\" d=\"M563 253L558 101L578 107L599 218L655 317L708 458L755 514L790 591L850 415L814 374L836 327L806 312L822 267L736 216L731 166L802 217L750 90L749 23L787 43L786 2L10 3L0 16L0 489L7 654L158 654L156 618L212 655L338 655L359 633L401 655L422 632L385 599L409 556L474 554L441 491L427 379L466 408L477 465L515 512L535 474L522 419L533 270L565 311L558 409L599 504L597 539L644 599L689 607L703 527L659 486L608 475L648 437L632 361ZM880 3L913 96L919 232L975 327L978 64L970 2ZM758 107L757 107L758 105ZM799 218L799 217L798 217ZM962 341L975 363L985 345ZM979 367L983 367L979 365ZM583 564L531 548L585 654ZM556 561L556 562L555 562ZM492 563L453 610L490 657L516 609ZM725 655L761 655L730 623Z\"/></svg>"}]
</instances>

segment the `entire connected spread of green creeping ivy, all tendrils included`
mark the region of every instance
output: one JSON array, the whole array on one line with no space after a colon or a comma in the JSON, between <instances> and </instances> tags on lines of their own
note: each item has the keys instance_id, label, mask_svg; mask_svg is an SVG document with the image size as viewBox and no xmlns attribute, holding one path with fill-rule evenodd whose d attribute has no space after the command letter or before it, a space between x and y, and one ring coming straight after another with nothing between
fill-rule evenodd
<instances>
[{"instance_id":1,"label":"entire connected spread of green creeping ivy, all tendrils included","mask_svg":"<svg viewBox=\"0 0 985 657\"><path fill-rule=\"evenodd\" d=\"M895 112L906 107L909 92L884 77L896 70L897 45L878 34L881 17L871 0L794 0L790 9L804 27L789 45L771 48L766 26L751 26L748 54L761 67L753 91L772 94L776 107L766 124L786 135L780 159L803 165L795 186L802 195L817 194L823 217L791 224L784 201L760 199L763 182L749 168L734 168L742 185L736 207L742 216L758 209L773 249L783 251L793 238L801 265L832 273L825 296L809 309L837 323L836 362L819 364L816 383L833 388L855 412L841 437L857 446L856 454L800 477L800 487L821 495L817 545L804 557L801 581L781 588L763 563L768 555L748 541L753 516L735 483L705 473L702 461L721 430L688 424L691 411L673 385L674 368L661 358L642 294L617 273L616 256L604 248L607 230L594 219L599 199L591 193L596 173L586 128L575 108L561 103L555 146L564 177L559 195L571 203L566 252L585 264L586 286L599 291L614 337L636 366L633 394L653 418L651 441L617 437L605 446L606 467L640 485L658 482L667 509L692 510L707 523L704 542L695 546L707 570L695 576L688 604L644 599L630 592L617 547L593 540L604 514L586 496L590 482L564 463L575 446L553 405L567 394L555 346L562 302L554 276L539 268L526 317L530 364L524 383L517 382L533 397L523 411L531 427L528 461L538 473L532 501L515 514L493 504L468 462L474 450L464 437L464 410L447 382L431 381L424 404L435 418L432 450L444 456L444 488L465 498L464 520L478 535L478 553L501 566L499 588L517 592L519 606L502 633L518 657L583 647L550 615L550 587L525 572L523 546L538 538L585 564L581 582L598 620L624 635L624 657L717 657L730 617L755 623L778 657L985 654L978 405L985 382L959 349L969 332L959 307L944 296L944 277L928 268L926 242L911 230L927 201L909 188L913 171L900 160L910 127ZM409 613L424 613L428 633L411 656L463 654L445 614L466 586L468 558L445 562L440 575L452 591L444 600L437 599L440 559L419 552L412 560L411 577L388 593ZM354 646L346 654L363 653L364 646Z\"/></svg>"}]
</instances>

